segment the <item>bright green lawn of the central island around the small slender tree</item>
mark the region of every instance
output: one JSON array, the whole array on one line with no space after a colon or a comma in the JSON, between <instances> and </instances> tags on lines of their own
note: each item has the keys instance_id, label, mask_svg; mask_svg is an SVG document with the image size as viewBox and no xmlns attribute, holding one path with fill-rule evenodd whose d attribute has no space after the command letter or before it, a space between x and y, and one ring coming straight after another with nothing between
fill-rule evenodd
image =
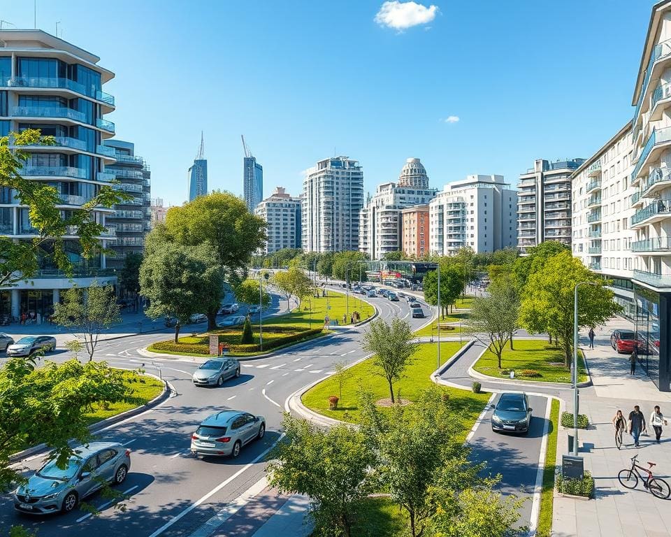
<instances>
[{"instance_id":1,"label":"bright green lawn of the central island around the small slender tree","mask_svg":"<svg viewBox=\"0 0 671 537\"><path fill-rule=\"evenodd\" d=\"M458 342L447 342L440 344L440 355L442 362L454 355L459 350ZM436 346L435 344L424 343L419 346L415 354L415 359L405 371L405 377L394 384L394 395L401 392L402 399L417 401L419 394L431 386L430 375L436 369ZM338 410L329 410L329 396L338 395L338 382L333 377L329 377L323 382L319 382L303 395L303 404L317 413L333 417L336 420L356 423L359 420L360 413L357 406L358 393L360 387L373 392L377 399L389 397L389 387L387 380L377 374L370 359L362 361L361 364L349 368L347 379L342 385L342 399L338 403ZM465 390L442 387L456 402L456 406L463 409L459 418L463 422L466 433L470 430L473 422L482 412L485 403L489 400L489 394L473 394Z\"/></svg>"}]
</instances>

